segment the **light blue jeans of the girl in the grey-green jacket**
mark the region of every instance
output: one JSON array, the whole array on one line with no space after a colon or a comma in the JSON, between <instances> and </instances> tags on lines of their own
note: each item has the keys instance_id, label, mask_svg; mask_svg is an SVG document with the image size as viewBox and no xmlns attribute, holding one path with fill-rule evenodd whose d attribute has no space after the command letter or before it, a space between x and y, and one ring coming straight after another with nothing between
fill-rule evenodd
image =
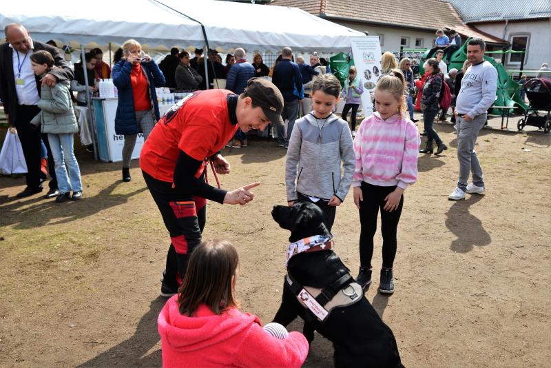
<instances>
[{"instance_id":1,"label":"light blue jeans of the girl in the grey-green jacket","mask_svg":"<svg viewBox=\"0 0 551 368\"><path fill-rule=\"evenodd\" d=\"M69 193L71 188L73 192L82 192L81 170L73 152L73 135L48 133L50 150L54 156L57 186L61 193Z\"/></svg>"}]
</instances>

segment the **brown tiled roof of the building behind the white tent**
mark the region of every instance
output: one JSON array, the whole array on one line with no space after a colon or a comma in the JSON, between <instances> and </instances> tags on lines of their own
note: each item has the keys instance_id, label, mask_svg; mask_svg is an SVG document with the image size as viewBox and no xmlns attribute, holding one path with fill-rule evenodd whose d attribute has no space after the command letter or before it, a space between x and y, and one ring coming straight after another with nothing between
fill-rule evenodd
<instances>
[{"instance_id":1,"label":"brown tiled roof of the building behind the white tent","mask_svg":"<svg viewBox=\"0 0 551 368\"><path fill-rule=\"evenodd\" d=\"M389 5L392 4L392 5ZM445 0L273 0L271 6L300 8L333 21L347 20L388 27L435 31L453 28L464 37L480 37L486 42L507 43L466 25L453 6Z\"/></svg>"}]
</instances>

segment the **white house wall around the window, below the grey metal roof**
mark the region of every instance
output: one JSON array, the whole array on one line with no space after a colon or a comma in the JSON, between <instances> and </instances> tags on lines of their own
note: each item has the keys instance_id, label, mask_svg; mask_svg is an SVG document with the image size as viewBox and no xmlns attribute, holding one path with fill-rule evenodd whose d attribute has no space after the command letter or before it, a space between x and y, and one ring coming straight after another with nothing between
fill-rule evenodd
<instances>
[{"instance_id":1,"label":"white house wall around the window, below the grey metal roof","mask_svg":"<svg viewBox=\"0 0 551 368\"><path fill-rule=\"evenodd\" d=\"M511 42L512 36L529 34L528 52L524 62L524 69L537 70L542 63L551 63L551 18L542 21L510 21L506 32L503 34L505 22L499 23L476 23L476 28L482 32L492 34ZM518 68L518 64L506 63L507 69ZM534 74L534 73L527 73ZM533 75L532 75L533 76Z\"/></svg>"}]
</instances>

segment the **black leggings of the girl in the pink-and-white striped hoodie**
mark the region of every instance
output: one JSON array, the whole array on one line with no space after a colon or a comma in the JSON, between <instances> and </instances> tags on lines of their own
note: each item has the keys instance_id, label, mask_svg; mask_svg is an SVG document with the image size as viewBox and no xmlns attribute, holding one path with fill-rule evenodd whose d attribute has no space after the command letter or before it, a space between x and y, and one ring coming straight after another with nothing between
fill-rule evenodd
<instances>
[{"instance_id":1,"label":"black leggings of the girl in the pink-and-white striped hoodie","mask_svg":"<svg viewBox=\"0 0 551 368\"><path fill-rule=\"evenodd\" d=\"M396 189L393 187L380 187L362 181L362 195L364 201L360 202L360 265L371 267L373 257L373 236L377 231L377 214L381 209L381 232L383 236L383 267L392 268L396 256L396 231L404 196L400 199L398 208L393 212L383 209L386 201L384 198Z\"/></svg>"}]
</instances>

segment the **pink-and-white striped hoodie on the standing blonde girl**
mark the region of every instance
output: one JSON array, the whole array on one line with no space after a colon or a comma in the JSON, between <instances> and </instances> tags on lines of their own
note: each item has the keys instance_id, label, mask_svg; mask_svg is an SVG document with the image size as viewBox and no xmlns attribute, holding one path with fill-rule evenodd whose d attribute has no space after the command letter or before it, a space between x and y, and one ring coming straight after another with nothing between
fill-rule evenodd
<instances>
[{"instance_id":1,"label":"pink-and-white striped hoodie on the standing blonde girl","mask_svg":"<svg viewBox=\"0 0 551 368\"><path fill-rule=\"evenodd\" d=\"M417 181L420 144L419 131L412 121L398 114L384 120L374 112L356 132L352 186L359 187L365 181L406 189Z\"/></svg>"}]
</instances>

